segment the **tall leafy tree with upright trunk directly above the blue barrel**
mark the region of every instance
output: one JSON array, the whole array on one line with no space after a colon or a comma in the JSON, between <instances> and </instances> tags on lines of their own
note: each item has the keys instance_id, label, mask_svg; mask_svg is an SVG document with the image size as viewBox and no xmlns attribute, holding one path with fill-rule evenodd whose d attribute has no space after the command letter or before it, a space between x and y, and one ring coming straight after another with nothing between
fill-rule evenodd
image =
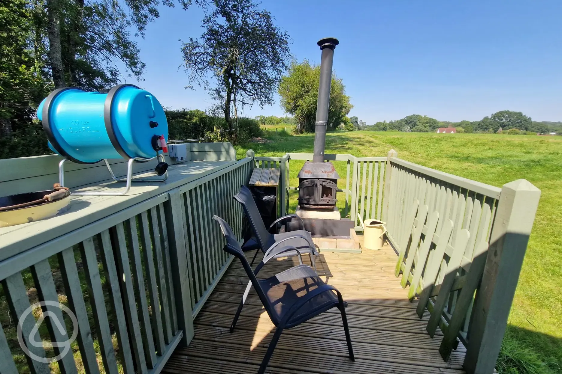
<instances>
[{"instance_id":1,"label":"tall leafy tree with upright trunk directly above the blue barrel","mask_svg":"<svg viewBox=\"0 0 562 374\"><path fill-rule=\"evenodd\" d=\"M195 0L205 6L204 0ZM122 71L140 79L144 63L140 50L131 39L144 36L149 22L159 17L158 0L125 0L124 2L97 0L44 0L36 2L46 16L40 17L48 40L48 65L56 88L76 86L99 89L120 81ZM164 1L173 7L173 0ZM187 9L192 0L179 0Z\"/></svg>"}]
</instances>

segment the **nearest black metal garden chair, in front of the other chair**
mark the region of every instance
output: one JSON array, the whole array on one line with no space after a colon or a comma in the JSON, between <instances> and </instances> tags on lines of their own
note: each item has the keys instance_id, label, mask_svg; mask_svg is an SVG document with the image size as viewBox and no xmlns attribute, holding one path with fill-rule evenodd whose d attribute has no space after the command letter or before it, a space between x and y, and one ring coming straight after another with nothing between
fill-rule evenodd
<instances>
[{"instance_id":1,"label":"nearest black metal garden chair, in front of the other chair","mask_svg":"<svg viewBox=\"0 0 562 374\"><path fill-rule=\"evenodd\" d=\"M252 285L260 301L264 304L264 308L266 312L268 312L271 322L277 327L273 338L271 338L265 357L261 362L258 374L265 372L265 368L268 366L275 345L277 345L279 336L283 330L300 325L302 322L310 320L310 318L318 316L320 313L324 313L333 307L337 307L341 312L343 329L346 334L347 349L350 359L355 361L345 311L347 303L343 301L342 294L339 293L336 287L325 284L312 267L303 265L300 251L292 246L272 248L265 254L263 260L256 267L256 270L252 271L252 267L248 263L246 256L244 256L244 252L228 223L217 215L213 216L213 219L220 224L220 229L226 239L224 251L234 255L240 260L248 278L250 278L242 302L234 316L232 325L230 325L230 333L234 331L234 327L238 321L242 307L244 306L244 301L246 301ZM275 256L279 254L290 251L297 253L301 262L300 265L284 270L268 279L257 279L257 273L259 273L260 269L268 260L275 258Z\"/></svg>"}]
</instances>

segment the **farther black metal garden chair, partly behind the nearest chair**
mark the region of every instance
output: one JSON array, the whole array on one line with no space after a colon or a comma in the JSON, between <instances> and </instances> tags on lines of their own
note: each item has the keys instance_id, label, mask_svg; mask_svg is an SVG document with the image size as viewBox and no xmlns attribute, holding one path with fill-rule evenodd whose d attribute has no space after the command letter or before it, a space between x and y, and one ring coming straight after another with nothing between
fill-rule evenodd
<instances>
[{"instance_id":1,"label":"farther black metal garden chair, partly behind the nearest chair","mask_svg":"<svg viewBox=\"0 0 562 374\"><path fill-rule=\"evenodd\" d=\"M265 227L264 220L261 219L260 211L257 208L256 201L253 200L252 191L250 191L250 188L242 185L240 188L240 192L234 195L234 200L238 201L242 205L244 213L246 214L248 221L250 221L250 226L252 228L254 236L256 237L257 244L259 244L259 248L256 251L256 254L253 256L250 266L253 265L253 261L256 260L257 252L260 249L265 253L268 250L272 250L273 248L278 247L280 244L284 244L284 246L292 246L297 248L298 252L301 253L301 255L303 253L310 255L310 262L312 264L312 267L314 267L314 270L316 270L314 256L318 256L319 252L316 251L316 247L312 242L311 234L304 229L305 226L302 218L300 218L296 214L289 214L278 218L274 221L274 223L271 224L269 230L276 227L279 222L293 218L296 218L298 221L300 221L302 229L279 234L271 234ZM296 250L285 251L274 258L290 257L296 255Z\"/></svg>"}]
</instances>

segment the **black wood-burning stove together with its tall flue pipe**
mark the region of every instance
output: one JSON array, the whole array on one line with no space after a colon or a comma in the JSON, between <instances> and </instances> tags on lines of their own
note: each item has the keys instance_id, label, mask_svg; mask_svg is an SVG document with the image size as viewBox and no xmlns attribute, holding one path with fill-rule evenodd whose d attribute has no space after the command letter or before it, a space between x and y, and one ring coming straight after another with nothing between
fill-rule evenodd
<instances>
[{"instance_id":1,"label":"black wood-burning stove together with its tall flue pipe","mask_svg":"<svg viewBox=\"0 0 562 374\"><path fill-rule=\"evenodd\" d=\"M301 209L334 209L338 188L338 173L331 162L324 162L330 85L334 49L339 44L336 38L324 38L318 42L322 50L320 61L320 85L316 104L316 127L314 134L314 156L306 161L298 173L298 203Z\"/></svg>"}]
</instances>

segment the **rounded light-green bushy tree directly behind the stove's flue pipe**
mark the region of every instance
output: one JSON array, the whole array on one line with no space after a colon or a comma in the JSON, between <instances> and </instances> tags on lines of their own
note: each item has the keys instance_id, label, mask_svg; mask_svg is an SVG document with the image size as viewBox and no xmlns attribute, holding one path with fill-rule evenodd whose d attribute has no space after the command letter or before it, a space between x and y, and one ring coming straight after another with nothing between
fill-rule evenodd
<instances>
[{"instance_id":1,"label":"rounded light-green bushy tree directly behind the stove's flue pipe","mask_svg":"<svg viewBox=\"0 0 562 374\"><path fill-rule=\"evenodd\" d=\"M281 106L285 112L293 114L297 122L297 132L313 132L320 85L320 66L293 61L288 74L279 84ZM334 130L350 112L353 105L345 94L345 86L335 73L332 73L330 86L330 106L328 109L328 129Z\"/></svg>"}]
</instances>

